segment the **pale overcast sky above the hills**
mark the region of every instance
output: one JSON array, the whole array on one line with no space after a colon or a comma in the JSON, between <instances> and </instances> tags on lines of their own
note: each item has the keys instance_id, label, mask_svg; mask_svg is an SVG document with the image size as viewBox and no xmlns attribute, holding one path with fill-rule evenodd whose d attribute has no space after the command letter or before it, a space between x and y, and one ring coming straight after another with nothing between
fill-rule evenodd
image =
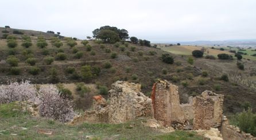
<instances>
[{"instance_id":1,"label":"pale overcast sky above the hills","mask_svg":"<svg viewBox=\"0 0 256 140\"><path fill-rule=\"evenodd\" d=\"M6 0L0 26L80 39L117 26L152 42L256 38L255 0Z\"/></svg>"}]
</instances>

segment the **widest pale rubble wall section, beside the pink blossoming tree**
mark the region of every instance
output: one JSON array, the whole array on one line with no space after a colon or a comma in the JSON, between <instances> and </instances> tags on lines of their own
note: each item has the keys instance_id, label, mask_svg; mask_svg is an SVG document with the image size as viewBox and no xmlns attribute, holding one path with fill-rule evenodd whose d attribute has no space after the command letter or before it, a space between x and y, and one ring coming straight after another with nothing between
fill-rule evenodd
<instances>
[{"instance_id":1,"label":"widest pale rubble wall section, beside the pink blossoming tree","mask_svg":"<svg viewBox=\"0 0 256 140\"><path fill-rule=\"evenodd\" d=\"M152 100L142 94L141 85L117 81L108 92L110 123L122 123L139 116L152 116Z\"/></svg>"}]
</instances>

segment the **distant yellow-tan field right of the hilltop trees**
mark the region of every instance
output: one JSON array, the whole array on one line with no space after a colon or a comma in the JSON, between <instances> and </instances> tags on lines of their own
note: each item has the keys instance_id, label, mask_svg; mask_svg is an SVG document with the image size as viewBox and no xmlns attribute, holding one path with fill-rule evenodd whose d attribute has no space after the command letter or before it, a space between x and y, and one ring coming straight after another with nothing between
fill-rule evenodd
<instances>
[{"instance_id":1,"label":"distant yellow-tan field right of the hilltop trees","mask_svg":"<svg viewBox=\"0 0 256 140\"><path fill-rule=\"evenodd\" d=\"M200 50L202 47L201 46L163 46L160 47L162 50L165 50L170 53L174 53L176 55L192 55L193 50ZM205 54L207 55L213 55L217 56L220 53L227 53L230 54L227 50L218 50L218 49L211 49L211 48L206 48Z\"/></svg>"}]
</instances>

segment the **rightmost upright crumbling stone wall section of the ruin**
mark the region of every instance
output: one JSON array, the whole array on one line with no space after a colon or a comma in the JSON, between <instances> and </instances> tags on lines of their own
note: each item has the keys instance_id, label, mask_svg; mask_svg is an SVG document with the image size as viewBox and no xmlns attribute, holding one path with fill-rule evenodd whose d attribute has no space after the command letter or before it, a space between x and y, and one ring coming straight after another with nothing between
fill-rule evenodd
<instances>
[{"instance_id":1,"label":"rightmost upright crumbling stone wall section of the ruin","mask_svg":"<svg viewBox=\"0 0 256 140\"><path fill-rule=\"evenodd\" d=\"M219 127L223 117L224 95L204 91L193 99L193 130Z\"/></svg>"}]
</instances>

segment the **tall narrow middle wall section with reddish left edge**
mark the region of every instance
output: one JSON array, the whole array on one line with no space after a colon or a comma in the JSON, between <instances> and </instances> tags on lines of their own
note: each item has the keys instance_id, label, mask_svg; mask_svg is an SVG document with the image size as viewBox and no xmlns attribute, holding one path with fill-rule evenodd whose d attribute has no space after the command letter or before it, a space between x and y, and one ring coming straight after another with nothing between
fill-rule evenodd
<instances>
[{"instance_id":1,"label":"tall narrow middle wall section with reddish left edge","mask_svg":"<svg viewBox=\"0 0 256 140\"><path fill-rule=\"evenodd\" d=\"M152 93L154 93L152 100L156 120L164 122L164 126L172 126L172 123L185 123L176 85L166 80L159 80L154 84Z\"/></svg>"}]
</instances>

